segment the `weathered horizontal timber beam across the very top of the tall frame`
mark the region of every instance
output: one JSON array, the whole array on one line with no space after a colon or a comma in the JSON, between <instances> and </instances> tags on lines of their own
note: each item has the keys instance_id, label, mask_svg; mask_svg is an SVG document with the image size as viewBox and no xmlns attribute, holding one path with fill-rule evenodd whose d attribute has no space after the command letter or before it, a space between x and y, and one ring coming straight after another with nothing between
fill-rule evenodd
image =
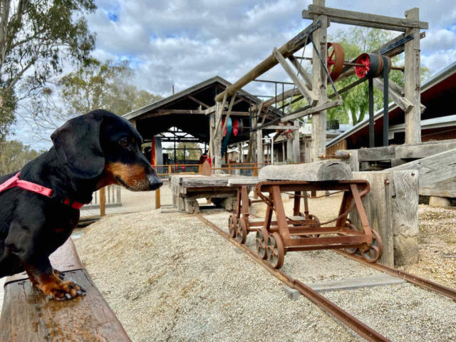
<instances>
[{"instance_id":1,"label":"weathered horizontal timber beam across the very top of the tall frame","mask_svg":"<svg viewBox=\"0 0 456 342\"><path fill-rule=\"evenodd\" d=\"M302 17L304 19L314 19L314 16L321 15L328 16L328 18L335 23L384 28L394 31L405 32L407 28L429 28L429 24L425 21L394 18L391 16L379 16L377 14L332 9L330 7L316 5L309 5L307 10L302 11Z\"/></svg>"}]
</instances>

